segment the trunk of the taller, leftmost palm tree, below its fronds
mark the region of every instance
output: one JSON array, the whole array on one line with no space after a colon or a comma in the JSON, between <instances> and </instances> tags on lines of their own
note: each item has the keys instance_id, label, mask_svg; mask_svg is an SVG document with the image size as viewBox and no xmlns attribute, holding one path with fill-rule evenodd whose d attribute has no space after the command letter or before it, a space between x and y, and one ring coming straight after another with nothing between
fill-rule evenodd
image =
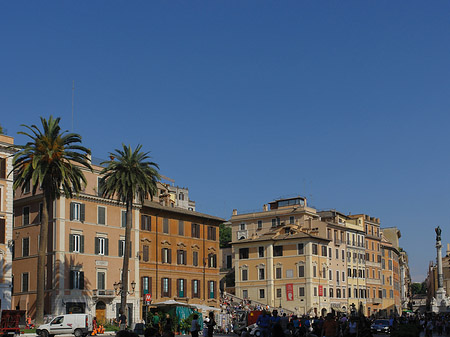
<instances>
[{"instance_id":1,"label":"trunk of the taller, leftmost palm tree, below its fronds","mask_svg":"<svg viewBox=\"0 0 450 337\"><path fill-rule=\"evenodd\" d=\"M42 201L42 222L39 238L38 266L37 266L37 295L36 295L36 326L44 323L44 304L45 304L45 264L47 257L48 242L48 207L50 200L45 196Z\"/></svg>"}]
</instances>

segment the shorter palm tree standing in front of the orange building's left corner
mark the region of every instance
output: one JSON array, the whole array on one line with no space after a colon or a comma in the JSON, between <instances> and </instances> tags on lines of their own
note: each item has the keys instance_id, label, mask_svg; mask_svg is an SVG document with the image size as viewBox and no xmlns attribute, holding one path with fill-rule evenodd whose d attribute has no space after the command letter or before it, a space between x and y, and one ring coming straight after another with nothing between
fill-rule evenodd
<instances>
[{"instance_id":1,"label":"shorter palm tree standing in front of the orange building's left corner","mask_svg":"<svg viewBox=\"0 0 450 337\"><path fill-rule=\"evenodd\" d=\"M111 160L101 163L105 168L100 172L100 187L103 197L116 198L125 203L127 209L127 223L125 227L125 249L121 279L120 309L125 314L128 295L128 265L131 249L131 227L133 200L136 197L140 203L146 196L157 192L156 182L160 179L157 171L158 164L148 161L149 152L141 152L142 145L133 151L130 146L122 144L122 150L110 153Z\"/></svg>"}]
</instances>

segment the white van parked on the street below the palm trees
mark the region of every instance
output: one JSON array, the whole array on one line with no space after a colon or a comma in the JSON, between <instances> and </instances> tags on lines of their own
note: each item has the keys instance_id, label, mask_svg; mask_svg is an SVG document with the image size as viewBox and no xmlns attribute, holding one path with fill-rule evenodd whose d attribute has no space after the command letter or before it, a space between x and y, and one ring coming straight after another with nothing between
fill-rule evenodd
<instances>
[{"instance_id":1,"label":"white van parked on the street below the palm trees","mask_svg":"<svg viewBox=\"0 0 450 337\"><path fill-rule=\"evenodd\" d=\"M92 315L68 314L56 316L50 323L42 324L36 329L41 337L74 334L76 337L87 336L92 332Z\"/></svg>"}]
</instances>

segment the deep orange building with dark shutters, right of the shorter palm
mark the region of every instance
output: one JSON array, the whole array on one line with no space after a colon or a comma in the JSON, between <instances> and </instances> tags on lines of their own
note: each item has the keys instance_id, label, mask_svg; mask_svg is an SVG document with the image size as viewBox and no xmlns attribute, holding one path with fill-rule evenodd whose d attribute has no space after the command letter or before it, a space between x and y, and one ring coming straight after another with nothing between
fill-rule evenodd
<instances>
[{"instance_id":1,"label":"deep orange building with dark shutters, right of the shorter palm","mask_svg":"<svg viewBox=\"0 0 450 337\"><path fill-rule=\"evenodd\" d=\"M173 299L219 306L219 225L225 220L145 201L140 220L141 304Z\"/></svg>"}]
</instances>

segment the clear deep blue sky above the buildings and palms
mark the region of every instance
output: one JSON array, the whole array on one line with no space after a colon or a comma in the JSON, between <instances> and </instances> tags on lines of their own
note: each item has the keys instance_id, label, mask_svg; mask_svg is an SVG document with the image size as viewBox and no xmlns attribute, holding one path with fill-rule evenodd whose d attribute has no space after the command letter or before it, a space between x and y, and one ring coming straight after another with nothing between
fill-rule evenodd
<instances>
[{"instance_id":1,"label":"clear deep blue sky above the buildings and palms","mask_svg":"<svg viewBox=\"0 0 450 337\"><path fill-rule=\"evenodd\" d=\"M450 242L450 2L3 1L0 124L144 145L197 210L300 194ZM16 143L25 139L17 137ZM443 249L445 253L445 247Z\"/></svg>"}]
</instances>

